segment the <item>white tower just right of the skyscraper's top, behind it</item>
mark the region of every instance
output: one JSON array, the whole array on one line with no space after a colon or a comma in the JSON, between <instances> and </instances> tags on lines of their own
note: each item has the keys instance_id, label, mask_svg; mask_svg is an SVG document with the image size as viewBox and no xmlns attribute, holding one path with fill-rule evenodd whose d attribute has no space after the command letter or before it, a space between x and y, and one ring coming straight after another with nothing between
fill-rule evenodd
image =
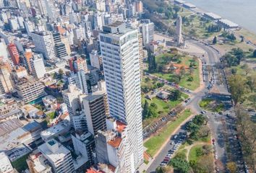
<instances>
[{"instance_id":1,"label":"white tower just right of the skyscraper's top, behind it","mask_svg":"<svg viewBox=\"0 0 256 173\"><path fill-rule=\"evenodd\" d=\"M140 32L142 32L143 45L148 45L154 40L154 23L150 22L150 19L144 19L141 21Z\"/></svg>"}]
</instances>

